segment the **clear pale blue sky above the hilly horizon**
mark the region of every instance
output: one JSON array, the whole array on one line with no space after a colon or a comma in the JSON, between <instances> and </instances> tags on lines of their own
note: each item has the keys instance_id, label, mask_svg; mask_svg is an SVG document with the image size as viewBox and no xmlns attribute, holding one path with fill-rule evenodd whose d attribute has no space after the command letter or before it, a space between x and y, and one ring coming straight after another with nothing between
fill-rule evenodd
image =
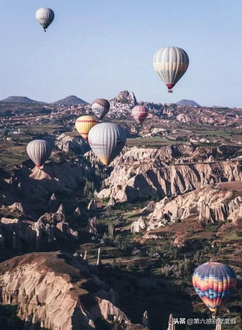
<instances>
[{"instance_id":1,"label":"clear pale blue sky above the hilly horizon","mask_svg":"<svg viewBox=\"0 0 242 330\"><path fill-rule=\"evenodd\" d=\"M39 7L55 12L46 33L35 18ZM242 107L241 17L241 0L4 1L0 99L92 102L126 89L139 101ZM173 94L152 67L165 46L190 59Z\"/></svg>"}]
</instances>

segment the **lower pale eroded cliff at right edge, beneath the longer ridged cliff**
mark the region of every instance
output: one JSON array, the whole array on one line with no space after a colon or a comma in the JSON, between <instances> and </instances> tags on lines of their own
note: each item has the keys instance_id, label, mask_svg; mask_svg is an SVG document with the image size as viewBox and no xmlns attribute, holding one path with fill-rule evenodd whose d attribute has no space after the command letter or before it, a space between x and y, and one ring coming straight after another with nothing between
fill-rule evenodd
<instances>
[{"instance_id":1,"label":"lower pale eroded cliff at right edge, beneath the longer ridged cliff","mask_svg":"<svg viewBox=\"0 0 242 330\"><path fill-rule=\"evenodd\" d=\"M242 213L242 181L210 184L156 203L149 215L149 230L195 216L199 221L231 219L238 222Z\"/></svg>"}]
</instances>

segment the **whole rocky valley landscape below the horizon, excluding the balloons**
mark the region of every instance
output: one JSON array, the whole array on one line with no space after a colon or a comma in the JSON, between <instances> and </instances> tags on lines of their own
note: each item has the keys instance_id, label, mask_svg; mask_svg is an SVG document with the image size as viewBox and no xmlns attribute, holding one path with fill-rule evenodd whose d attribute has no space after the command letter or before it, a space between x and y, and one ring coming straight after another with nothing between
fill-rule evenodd
<instances>
[{"instance_id":1,"label":"whole rocky valley landscape below the horizon, excluding the balloons","mask_svg":"<svg viewBox=\"0 0 242 330\"><path fill-rule=\"evenodd\" d=\"M221 311L236 325L223 329L242 329L241 110L144 102L150 113L138 125L137 100L123 91L104 121L123 125L128 139L105 167L74 129L90 105L71 99L30 100L24 112L19 99L0 105L2 324L172 330L171 313L211 317L191 276L213 260L238 279ZM25 152L34 138L53 147L39 169Z\"/></svg>"}]
</instances>

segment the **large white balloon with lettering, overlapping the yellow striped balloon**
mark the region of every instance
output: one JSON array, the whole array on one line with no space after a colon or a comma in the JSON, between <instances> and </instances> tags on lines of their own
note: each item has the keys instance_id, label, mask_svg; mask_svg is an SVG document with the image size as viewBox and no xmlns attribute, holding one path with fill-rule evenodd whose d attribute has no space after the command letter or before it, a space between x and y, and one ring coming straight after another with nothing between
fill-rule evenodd
<instances>
[{"instance_id":1,"label":"large white balloon with lettering, overlapping the yellow striped balloon","mask_svg":"<svg viewBox=\"0 0 242 330\"><path fill-rule=\"evenodd\" d=\"M104 165L109 165L123 149L126 132L118 124L101 123L90 130L88 141L93 153Z\"/></svg>"}]
</instances>

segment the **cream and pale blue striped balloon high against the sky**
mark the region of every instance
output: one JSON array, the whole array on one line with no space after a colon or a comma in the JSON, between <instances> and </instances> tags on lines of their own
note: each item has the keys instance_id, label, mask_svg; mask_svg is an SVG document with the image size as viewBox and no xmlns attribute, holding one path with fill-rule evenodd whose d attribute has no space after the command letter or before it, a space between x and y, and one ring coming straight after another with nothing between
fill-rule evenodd
<instances>
[{"instance_id":1,"label":"cream and pale blue striped balloon high against the sky","mask_svg":"<svg viewBox=\"0 0 242 330\"><path fill-rule=\"evenodd\" d=\"M179 47L164 47L153 57L153 68L168 87L168 93L185 74L189 58L185 50Z\"/></svg>"}]
</instances>

